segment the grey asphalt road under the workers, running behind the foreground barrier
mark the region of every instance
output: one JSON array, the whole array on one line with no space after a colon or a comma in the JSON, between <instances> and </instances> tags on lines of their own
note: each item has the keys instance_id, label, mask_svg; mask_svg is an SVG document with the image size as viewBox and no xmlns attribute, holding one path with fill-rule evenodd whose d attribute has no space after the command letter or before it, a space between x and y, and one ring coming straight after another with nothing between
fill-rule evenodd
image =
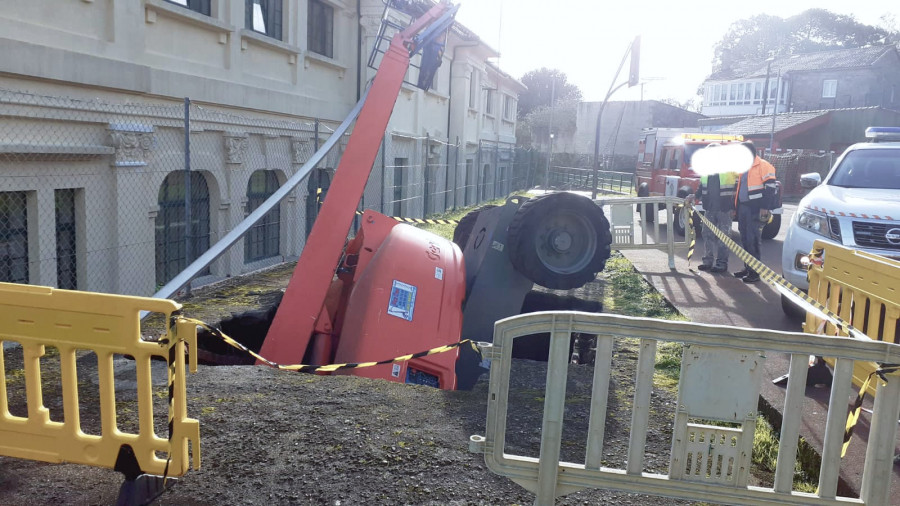
<instances>
[{"instance_id":1,"label":"grey asphalt road under the workers, running behind the foreground barrier","mask_svg":"<svg viewBox=\"0 0 900 506\"><path fill-rule=\"evenodd\" d=\"M782 227L773 240L763 241L762 261L775 272L781 272L781 250L784 235L791 216L796 211L795 204L785 204ZM637 218L637 216L635 216ZM664 212L659 213L660 236L657 241L666 240ZM737 224L733 226L731 237L740 243ZM692 321L737 327L766 328L772 330L802 331L799 319L787 317L781 309L781 296L774 287L762 281L747 285L731 275L732 271L743 268L734 255L729 262L729 272L710 274L697 271L703 255L702 241L698 240L690 267L686 249L676 250L675 269L669 269L668 256L658 250L626 250L622 253L635 268L662 293L669 302ZM690 269L693 269L691 271ZM772 379L787 374L789 359L784 354L770 354L766 361L766 380L761 396L779 412L784 405L784 386L772 383ZM825 433L830 388L827 386L808 387L803 407L801 434L821 452ZM871 408L871 402L868 402ZM847 456L841 464L842 486L839 494L858 494L865 461L864 444L869 426L869 415L863 412L850 444ZM898 447L900 450L900 447ZM900 452L898 452L900 453ZM895 504L900 504L900 472L894 466L894 480L891 487Z\"/></svg>"}]
</instances>

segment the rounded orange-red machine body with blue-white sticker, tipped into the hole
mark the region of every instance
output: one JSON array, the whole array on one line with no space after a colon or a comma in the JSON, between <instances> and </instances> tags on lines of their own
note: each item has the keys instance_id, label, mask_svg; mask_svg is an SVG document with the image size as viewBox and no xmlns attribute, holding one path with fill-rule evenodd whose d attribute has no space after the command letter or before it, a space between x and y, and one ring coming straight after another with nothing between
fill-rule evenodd
<instances>
[{"instance_id":1,"label":"rounded orange-red machine body with blue-white sticker, tipped into the hole","mask_svg":"<svg viewBox=\"0 0 900 506\"><path fill-rule=\"evenodd\" d=\"M333 363L385 360L459 341L466 276L451 241L366 211L339 277L341 271L353 280L342 282L347 300L337 315ZM353 374L455 389L458 355L453 349Z\"/></svg>"}]
</instances>

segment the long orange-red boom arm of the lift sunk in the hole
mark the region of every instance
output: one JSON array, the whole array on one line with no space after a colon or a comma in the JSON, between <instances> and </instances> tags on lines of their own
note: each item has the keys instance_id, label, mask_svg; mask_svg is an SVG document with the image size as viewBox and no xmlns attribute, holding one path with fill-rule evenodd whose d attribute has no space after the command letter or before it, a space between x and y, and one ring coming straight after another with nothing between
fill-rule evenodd
<instances>
[{"instance_id":1,"label":"long orange-red boom arm of the lift sunk in the hole","mask_svg":"<svg viewBox=\"0 0 900 506\"><path fill-rule=\"evenodd\" d=\"M325 202L322 204L322 209L310 231L303 253L297 261L291 281L285 289L281 305L266 334L260 353L267 359L282 364L303 363L304 358L310 359L305 363L316 365L329 363L329 357L338 349L336 347L337 338L344 323L349 323L343 321L344 316L351 320L360 317L356 315L358 310L351 310L344 304L352 295L350 290L353 287L347 286L348 278L352 283L356 276L354 274L354 277L351 278L349 271L353 270L359 275L364 274L366 269L359 263L365 261L363 257L374 255L378 248L373 247L371 251L364 248L356 252L351 251L351 246L358 247L359 243L364 240L357 238L345 249L347 233L356 213L356 204L365 190L394 103L397 101L404 76L409 69L411 52L415 53L448 29L453 22L456 9L457 6L448 2L437 3L424 14L416 17L405 30L397 32L391 38L390 46L384 53L372 85L367 91L353 128L353 134L347 142L347 148L341 157ZM373 214L369 213L366 219L372 216ZM373 234L375 232L372 232L370 236ZM440 240L436 238L435 241ZM427 241L425 242L427 244ZM453 251L451 256L461 256L458 249L453 250L449 246L449 242L442 244L443 246L439 247L442 255ZM407 254L403 253L417 254L412 249L408 252L394 249L393 254L397 256L394 262L404 268L407 265L415 264L415 260L407 258ZM344 261L337 272L337 283L343 283L344 286L335 286L335 267L341 261L342 255ZM389 264L387 261L379 262L384 262L384 265ZM462 261L459 260L458 263L462 268ZM357 269L357 267L361 268ZM395 276L393 279L398 281L401 278L400 273L392 275ZM366 283L372 282L366 281ZM371 286L373 289L380 288L375 284L371 284ZM390 287L388 288L390 289ZM356 297L362 296L357 295ZM372 300L374 297L373 294ZM449 302L446 303L449 305ZM416 312L419 314L425 312L427 317L427 311L422 311L420 308L421 306L417 307L418 311ZM431 316L434 317L435 314L431 314ZM384 321L390 321L391 318L397 317L385 315L385 318L388 320ZM415 315L415 318L418 319L418 316ZM371 323L381 324L382 320L371 320ZM392 325L388 327L393 328ZM374 332L374 330L371 331ZM387 331L378 332L383 334ZM450 329L444 332L445 335L451 333ZM421 341L418 341L418 335L407 334L405 338L410 346L418 347L422 344ZM358 340L359 337L356 334L348 339ZM445 341L442 344L451 341ZM380 344L376 343L375 347L380 349ZM365 361L372 361L372 356L363 354L362 349L372 351L373 345L365 344L364 348L357 350L359 353L352 353L352 355L365 357ZM405 348L403 354L412 351L415 350ZM348 353L342 353L341 356L348 356ZM377 356L390 358L385 357L382 353L378 353Z\"/></svg>"}]
</instances>

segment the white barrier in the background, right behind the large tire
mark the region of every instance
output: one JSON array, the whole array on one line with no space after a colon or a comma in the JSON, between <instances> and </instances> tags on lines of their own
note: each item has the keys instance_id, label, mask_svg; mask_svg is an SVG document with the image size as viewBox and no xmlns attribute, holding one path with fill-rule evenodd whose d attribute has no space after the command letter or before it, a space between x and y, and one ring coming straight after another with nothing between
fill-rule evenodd
<instances>
[{"instance_id":1,"label":"white barrier in the background, right behind the large tire","mask_svg":"<svg viewBox=\"0 0 900 506\"><path fill-rule=\"evenodd\" d=\"M684 204L678 197L631 197L631 198L598 198L594 200L601 207L608 207L612 232L612 249L658 249L669 255L669 268L675 268L675 248L688 248L694 241L694 227L685 227L685 236L678 239L673 231L676 209ZM653 223L647 223L647 208L654 214ZM665 238L660 234L658 209L665 209ZM637 209L637 213L635 213ZM640 218L640 224L635 218Z\"/></svg>"}]
</instances>

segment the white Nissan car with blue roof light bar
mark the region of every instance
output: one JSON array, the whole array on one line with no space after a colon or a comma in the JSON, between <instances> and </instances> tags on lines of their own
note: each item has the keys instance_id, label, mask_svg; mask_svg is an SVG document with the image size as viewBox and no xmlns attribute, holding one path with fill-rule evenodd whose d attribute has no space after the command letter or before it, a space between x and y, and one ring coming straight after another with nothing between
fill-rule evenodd
<instances>
[{"instance_id":1,"label":"white Nissan car with blue roof light bar","mask_svg":"<svg viewBox=\"0 0 900 506\"><path fill-rule=\"evenodd\" d=\"M824 181L800 178L813 190L797 205L781 253L782 275L797 288L809 289L801 259L816 239L900 258L900 127L870 127L866 137L872 142L847 148ZM781 306L796 312L784 296Z\"/></svg>"}]
</instances>

